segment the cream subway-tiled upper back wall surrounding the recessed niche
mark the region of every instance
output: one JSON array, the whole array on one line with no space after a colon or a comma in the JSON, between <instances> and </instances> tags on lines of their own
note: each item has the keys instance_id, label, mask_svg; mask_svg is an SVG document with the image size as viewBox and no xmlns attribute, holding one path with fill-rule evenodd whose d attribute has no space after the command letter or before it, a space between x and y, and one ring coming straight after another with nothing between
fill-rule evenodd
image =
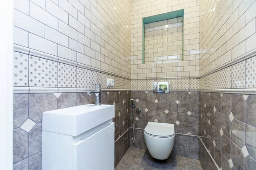
<instances>
[{"instance_id":1,"label":"cream subway-tiled upper back wall surrounding the recessed niche","mask_svg":"<svg viewBox=\"0 0 256 170\"><path fill-rule=\"evenodd\" d=\"M182 41L178 41L174 37L169 37L169 42L172 42L172 46L177 46L177 50L172 49L173 47L164 46L164 44L168 44L167 41L164 42L160 40L161 35L153 35L158 34L158 32L164 32L164 29L161 30L161 26L165 26L163 21L159 26L158 24L154 26L153 23L145 26L145 29L148 32L151 32L153 38L152 40L145 39L145 56L151 55L149 51L153 52L153 57L145 57L145 64L142 64L142 20L143 17L153 16L157 14L163 14L166 12L177 11L180 9L184 9L184 17L183 17L183 30L184 30L184 61L178 61L174 59L173 56L178 56L180 53L182 54ZM131 1L131 79L156 79L163 78L178 78L178 77L199 77L199 16L200 16L200 1L199 0L132 0ZM175 20L175 19L174 19ZM171 20L169 21L171 22ZM173 22L175 23L175 22ZM180 23L175 23L176 26ZM167 21L168 25L168 21ZM172 25L173 26L173 25ZM146 28L148 27L148 28ZM153 27L153 30L150 31ZM155 27L155 31L154 31ZM167 26L168 27L168 26ZM169 33L172 33L173 29L170 29ZM167 31L166 36L169 36ZM149 33L145 33L146 35ZM174 32L174 34L180 34L179 31ZM172 34L173 36L173 34ZM149 36L151 37L151 36ZM162 36L163 37L163 36ZM180 37L181 38L181 37ZM157 41L156 41L157 40ZM160 42L158 42L160 40ZM182 38L181 38L182 40ZM173 44L173 41L174 44ZM151 44L150 44L151 42ZM148 44L147 44L148 43ZM163 46L157 46L158 44L163 44ZM181 43L181 45L179 44ZM153 45L153 48L152 47ZM148 45L148 46L147 46ZM151 45L151 47L150 47ZM166 48L167 47L167 48ZM179 47L179 48L178 48ZM148 49L146 49L148 48ZM156 49L157 48L157 51ZM148 50L148 51L147 51ZM172 54L171 52L172 51ZM165 54L165 55L163 55ZM155 55L155 56L154 56ZM164 56L164 57L163 57ZM148 63L154 62L149 61L150 58L154 59L154 57L162 57L164 60L166 56L166 60L168 63L165 65L161 65L161 63ZM169 56L169 58L167 57ZM179 58L180 59L180 58ZM182 59L182 58L181 58ZM170 62L175 61L175 62ZM162 62L162 61L161 61ZM186 67L188 66L188 67ZM194 66L194 67L190 67ZM179 68L174 68L179 67ZM186 68L184 68L186 67Z\"/></svg>"}]
</instances>

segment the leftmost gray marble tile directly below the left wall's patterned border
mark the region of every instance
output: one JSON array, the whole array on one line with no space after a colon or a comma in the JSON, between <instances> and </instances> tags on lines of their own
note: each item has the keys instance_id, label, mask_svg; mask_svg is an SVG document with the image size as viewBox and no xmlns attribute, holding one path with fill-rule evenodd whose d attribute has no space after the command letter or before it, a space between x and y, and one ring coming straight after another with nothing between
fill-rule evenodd
<instances>
[{"instance_id":1,"label":"leftmost gray marble tile directly below the left wall's patterned border","mask_svg":"<svg viewBox=\"0 0 256 170\"><path fill-rule=\"evenodd\" d=\"M13 128L20 127L29 117L29 94L13 94Z\"/></svg>"}]
</instances>

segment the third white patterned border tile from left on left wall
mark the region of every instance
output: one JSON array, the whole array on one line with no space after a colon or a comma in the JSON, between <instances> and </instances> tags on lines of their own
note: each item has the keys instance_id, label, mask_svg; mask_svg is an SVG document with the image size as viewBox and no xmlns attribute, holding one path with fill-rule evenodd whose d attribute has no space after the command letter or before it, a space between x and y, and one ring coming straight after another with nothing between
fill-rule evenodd
<instances>
[{"instance_id":1,"label":"third white patterned border tile from left on left wall","mask_svg":"<svg viewBox=\"0 0 256 170\"><path fill-rule=\"evenodd\" d=\"M63 63L58 63L58 87L76 87L76 67Z\"/></svg>"}]
</instances>

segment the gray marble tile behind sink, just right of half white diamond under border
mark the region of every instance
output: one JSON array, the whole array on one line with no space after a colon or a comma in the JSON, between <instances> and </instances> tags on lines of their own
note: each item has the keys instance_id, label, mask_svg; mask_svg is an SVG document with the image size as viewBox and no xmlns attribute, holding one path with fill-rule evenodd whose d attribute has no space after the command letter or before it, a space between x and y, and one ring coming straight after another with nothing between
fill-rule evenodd
<instances>
[{"instance_id":1,"label":"gray marble tile behind sink, just right of half white diamond under border","mask_svg":"<svg viewBox=\"0 0 256 170\"><path fill-rule=\"evenodd\" d=\"M76 93L63 93L58 98L58 109L76 106Z\"/></svg>"}]
</instances>

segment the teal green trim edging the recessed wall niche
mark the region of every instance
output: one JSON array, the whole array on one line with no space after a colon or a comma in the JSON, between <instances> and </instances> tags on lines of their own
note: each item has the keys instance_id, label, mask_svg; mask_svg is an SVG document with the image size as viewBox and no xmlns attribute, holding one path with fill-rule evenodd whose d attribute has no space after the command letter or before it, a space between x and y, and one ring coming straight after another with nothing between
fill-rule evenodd
<instances>
[{"instance_id":1,"label":"teal green trim edging the recessed wall niche","mask_svg":"<svg viewBox=\"0 0 256 170\"><path fill-rule=\"evenodd\" d=\"M167 12L164 14L158 14L142 19L142 64L145 64L145 24L154 23L163 20L169 20L172 18L183 17L184 9L178 11ZM184 21L183 21L184 22ZM184 45L184 27L183 27L183 45ZM182 48L182 60L184 61L184 52Z\"/></svg>"}]
</instances>

